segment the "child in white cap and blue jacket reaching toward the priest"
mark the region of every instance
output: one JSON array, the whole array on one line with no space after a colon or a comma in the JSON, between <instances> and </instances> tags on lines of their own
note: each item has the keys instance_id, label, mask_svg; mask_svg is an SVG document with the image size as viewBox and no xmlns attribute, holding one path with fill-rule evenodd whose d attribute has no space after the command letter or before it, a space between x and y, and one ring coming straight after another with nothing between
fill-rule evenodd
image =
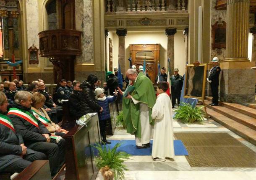
<instances>
[{"instance_id":1,"label":"child in white cap and blue jacket reaching toward the priest","mask_svg":"<svg viewBox=\"0 0 256 180\"><path fill-rule=\"evenodd\" d=\"M100 134L102 136L102 141L106 144L110 144L111 142L106 139L106 122L110 121L110 109L108 104L114 102L118 96L117 91L115 90L114 96L105 96L104 89L96 88L95 89L96 99L98 100L99 106L103 108L103 111L99 113L99 129Z\"/></svg>"}]
</instances>

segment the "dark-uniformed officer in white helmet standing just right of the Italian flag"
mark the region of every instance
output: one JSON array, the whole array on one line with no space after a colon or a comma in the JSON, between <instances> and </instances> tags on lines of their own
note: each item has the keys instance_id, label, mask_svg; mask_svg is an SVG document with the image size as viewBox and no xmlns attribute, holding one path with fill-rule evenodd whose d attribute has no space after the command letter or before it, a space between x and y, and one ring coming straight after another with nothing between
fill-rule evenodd
<instances>
[{"instance_id":1,"label":"dark-uniformed officer in white helmet standing just right of the Italian flag","mask_svg":"<svg viewBox=\"0 0 256 180\"><path fill-rule=\"evenodd\" d=\"M178 101L178 106L180 105L180 94L183 86L183 77L179 74L179 69L174 69L174 75L171 77L171 88L172 88L172 108L176 103L176 99Z\"/></svg>"}]
</instances>

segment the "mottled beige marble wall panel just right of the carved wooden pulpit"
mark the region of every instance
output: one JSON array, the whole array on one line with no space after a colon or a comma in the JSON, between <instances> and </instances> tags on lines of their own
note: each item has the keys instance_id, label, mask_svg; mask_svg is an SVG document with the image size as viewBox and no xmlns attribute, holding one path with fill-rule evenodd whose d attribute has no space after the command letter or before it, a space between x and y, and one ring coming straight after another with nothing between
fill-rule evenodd
<instances>
[{"instance_id":1,"label":"mottled beige marble wall panel just right of the carved wooden pulpit","mask_svg":"<svg viewBox=\"0 0 256 180\"><path fill-rule=\"evenodd\" d=\"M82 55L76 56L77 63L94 62L93 4L92 0L75 0L76 30L82 31Z\"/></svg>"}]
</instances>

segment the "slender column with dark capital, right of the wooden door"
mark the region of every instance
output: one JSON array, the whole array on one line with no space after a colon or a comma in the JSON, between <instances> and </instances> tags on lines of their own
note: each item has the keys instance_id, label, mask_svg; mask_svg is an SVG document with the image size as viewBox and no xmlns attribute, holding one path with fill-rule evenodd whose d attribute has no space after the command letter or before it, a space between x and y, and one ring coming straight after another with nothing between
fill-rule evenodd
<instances>
[{"instance_id":1,"label":"slender column with dark capital, right of the wooden door","mask_svg":"<svg viewBox=\"0 0 256 180\"><path fill-rule=\"evenodd\" d=\"M170 68L171 73L174 71L174 35L177 33L176 28L165 29L165 34L167 35L167 58L170 57Z\"/></svg>"}]
</instances>

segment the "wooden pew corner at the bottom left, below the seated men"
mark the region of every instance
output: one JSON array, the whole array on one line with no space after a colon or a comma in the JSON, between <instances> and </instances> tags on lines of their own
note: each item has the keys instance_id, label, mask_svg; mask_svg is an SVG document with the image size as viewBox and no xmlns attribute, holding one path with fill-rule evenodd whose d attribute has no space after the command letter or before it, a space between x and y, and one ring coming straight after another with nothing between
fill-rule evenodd
<instances>
[{"instance_id":1,"label":"wooden pew corner at the bottom left, below the seated men","mask_svg":"<svg viewBox=\"0 0 256 180\"><path fill-rule=\"evenodd\" d=\"M18 174L13 180L51 180L48 160L36 160L29 167Z\"/></svg>"}]
</instances>

